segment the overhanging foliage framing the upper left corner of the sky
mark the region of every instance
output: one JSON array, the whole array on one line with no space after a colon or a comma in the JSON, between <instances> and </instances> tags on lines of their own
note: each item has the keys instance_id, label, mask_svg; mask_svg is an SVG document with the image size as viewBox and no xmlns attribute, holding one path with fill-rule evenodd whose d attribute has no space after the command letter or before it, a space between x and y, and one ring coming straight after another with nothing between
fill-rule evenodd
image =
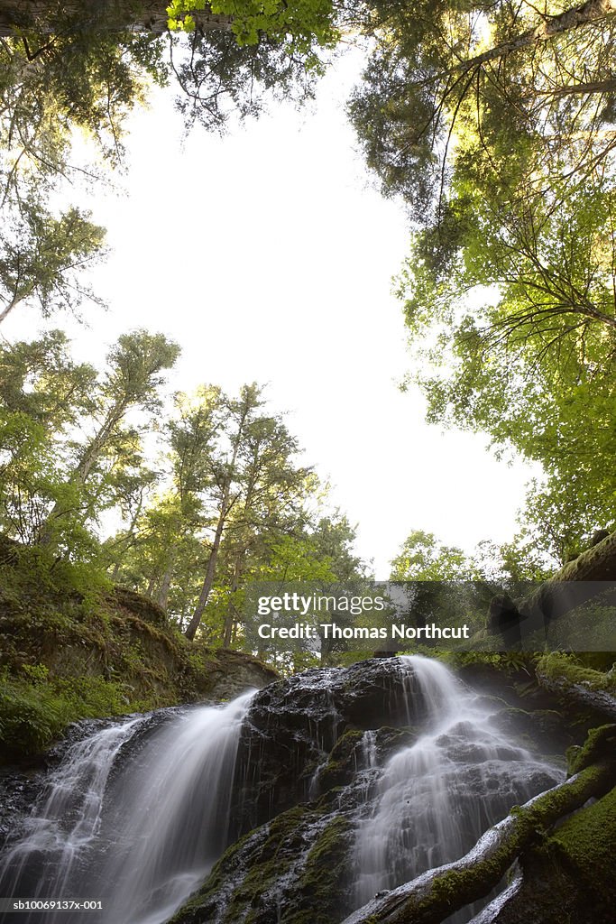
<instances>
[{"instance_id":1,"label":"overhanging foliage framing the upper left corner of the sky","mask_svg":"<svg viewBox=\"0 0 616 924\"><path fill-rule=\"evenodd\" d=\"M66 182L101 178L99 167L76 158L76 131L118 166L128 114L171 73L187 125L223 128L234 111L257 115L263 92L302 99L334 30L330 0L178 0L169 8L166 0L3 0L0 36L2 322L24 299L37 298L45 316L74 310L84 297L99 301L80 278L102 255L103 229L79 209L49 207Z\"/></svg>"}]
</instances>

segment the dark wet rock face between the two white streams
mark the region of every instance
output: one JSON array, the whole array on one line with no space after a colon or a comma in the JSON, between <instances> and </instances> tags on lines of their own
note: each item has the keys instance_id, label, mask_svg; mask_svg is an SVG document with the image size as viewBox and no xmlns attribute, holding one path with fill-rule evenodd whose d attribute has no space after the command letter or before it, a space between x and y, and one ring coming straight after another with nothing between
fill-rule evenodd
<instances>
[{"instance_id":1,"label":"dark wet rock face between the two white streams","mask_svg":"<svg viewBox=\"0 0 616 924\"><path fill-rule=\"evenodd\" d=\"M347 757L353 769L341 770L334 753L349 730L358 740L370 729L420 723L425 714L413 675L397 658L309 670L265 687L252 703L240 738L232 826L244 833L318 795L323 770L325 779L333 773L328 782L342 784L344 774L361 763L352 750Z\"/></svg>"}]
</instances>

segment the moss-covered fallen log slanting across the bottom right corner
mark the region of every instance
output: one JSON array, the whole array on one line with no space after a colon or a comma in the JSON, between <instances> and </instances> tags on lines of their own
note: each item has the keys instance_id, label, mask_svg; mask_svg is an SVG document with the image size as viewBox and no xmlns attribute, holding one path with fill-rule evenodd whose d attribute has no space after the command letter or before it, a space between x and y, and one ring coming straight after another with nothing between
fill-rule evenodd
<instances>
[{"instance_id":1,"label":"moss-covered fallen log slanting across the bottom right corner","mask_svg":"<svg viewBox=\"0 0 616 924\"><path fill-rule=\"evenodd\" d=\"M614 783L616 764L602 761L515 807L490 828L469 853L430 869L385 895L375 896L344 924L439 924L459 908L489 894L526 847L546 828L603 796Z\"/></svg>"}]
</instances>

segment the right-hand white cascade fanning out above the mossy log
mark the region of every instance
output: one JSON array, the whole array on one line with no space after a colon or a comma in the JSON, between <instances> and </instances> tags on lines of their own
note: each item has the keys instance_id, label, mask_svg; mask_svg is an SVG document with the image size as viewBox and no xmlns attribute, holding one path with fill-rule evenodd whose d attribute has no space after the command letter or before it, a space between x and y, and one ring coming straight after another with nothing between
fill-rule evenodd
<instances>
[{"instance_id":1,"label":"right-hand white cascade fanning out above the mossy log","mask_svg":"<svg viewBox=\"0 0 616 924\"><path fill-rule=\"evenodd\" d=\"M494 707L443 664L419 655L401 662L407 700L422 701L425 731L389 760L374 808L358 824L357 906L462 857L513 805L562 780L503 736L490 723Z\"/></svg>"}]
</instances>

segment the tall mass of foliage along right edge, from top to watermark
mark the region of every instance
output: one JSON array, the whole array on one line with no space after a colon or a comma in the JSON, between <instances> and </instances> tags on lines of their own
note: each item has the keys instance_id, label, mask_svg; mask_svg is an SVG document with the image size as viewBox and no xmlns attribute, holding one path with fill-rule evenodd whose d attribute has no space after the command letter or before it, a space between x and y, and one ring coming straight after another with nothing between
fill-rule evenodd
<instances>
[{"instance_id":1,"label":"tall mass of foliage along right edge, from top to watermark","mask_svg":"<svg viewBox=\"0 0 616 924\"><path fill-rule=\"evenodd\" d=\"M429 419L545 472L522 547L616 522L610 7L374 3L349 111L414 221L399 280Z\"/></svg>"}]
</instances>

